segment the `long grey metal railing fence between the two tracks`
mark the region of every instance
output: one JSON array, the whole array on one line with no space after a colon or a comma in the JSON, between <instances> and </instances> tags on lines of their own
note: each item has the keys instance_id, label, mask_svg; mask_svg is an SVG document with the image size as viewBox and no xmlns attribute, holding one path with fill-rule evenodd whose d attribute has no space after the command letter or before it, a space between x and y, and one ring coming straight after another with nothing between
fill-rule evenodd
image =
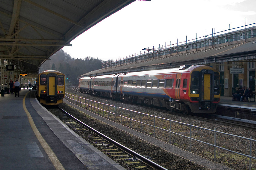
<instances>
[{"instance_id":1,"label":"long grey metal railing fence between the two tracks","mask_svg":"<svg viewBox=\"0 0 256 170\"><path fill-rule=\"evenodd\" d=\"M230 156L232 153L234 159L236 158L238 161L242 159L244 162L248 161L247 164L250 170L252 165L256 168L256 140L252 139L252 136L246 138L217 131L216 128L212 130L199 127L122 107L103 104L67 93L65 94L65 99L105 118L149 134L155 138L164 136L164 141L168 140L169 143L178 147L187 148L190 152L197 151L193 149L193 146L202 144L201 149L204 151L202 156L214 161L222 162L223 157ZM207 135L207 138L205 138L205 135ZM188 140L187 144L184 144L182 138ZM234 141L241 145L235 145L233 148L225 147L227 142ZM247 145L242 145L246 143ZM221 150L224 152L221 152ZM241 158L240 156L244 156L245 158Z\"/></svg>"}]
</instances>

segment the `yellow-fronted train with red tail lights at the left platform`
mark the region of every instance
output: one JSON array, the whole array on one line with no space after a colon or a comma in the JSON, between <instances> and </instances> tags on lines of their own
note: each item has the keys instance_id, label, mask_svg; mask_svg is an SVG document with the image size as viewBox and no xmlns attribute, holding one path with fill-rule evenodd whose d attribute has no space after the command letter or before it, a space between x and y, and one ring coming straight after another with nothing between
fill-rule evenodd
<instances>
[{"instance_id":1,"label":"yellow-fronted train with red tail lights at the left platform","mask_svg":"<svg viewBox=\"0 0 256 170\"><path fill-rule=\"evenodd\" d=\"M39 77L38 97L45 105L63 103L65 93L65 76L59 73L41 73Z\"/></svg>"}]
</instances>

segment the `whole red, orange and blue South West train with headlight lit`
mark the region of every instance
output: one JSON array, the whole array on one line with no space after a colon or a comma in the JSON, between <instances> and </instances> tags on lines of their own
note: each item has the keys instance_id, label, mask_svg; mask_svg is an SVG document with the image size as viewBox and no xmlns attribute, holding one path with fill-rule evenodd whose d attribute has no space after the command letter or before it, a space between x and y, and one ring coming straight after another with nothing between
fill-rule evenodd
<instances>
[{"instance_id":1,"label":"whole red, orange and blue South West train with headlight lit","mask_svg":"<svg viewBox=\"0 0 256 170\"><path fill-rule=\"evenodd\" d=\"M204 65L83 77L79 87L82 93L183 114L215 113L220 100L219 71Z\"/></svg>"}]
</instances>

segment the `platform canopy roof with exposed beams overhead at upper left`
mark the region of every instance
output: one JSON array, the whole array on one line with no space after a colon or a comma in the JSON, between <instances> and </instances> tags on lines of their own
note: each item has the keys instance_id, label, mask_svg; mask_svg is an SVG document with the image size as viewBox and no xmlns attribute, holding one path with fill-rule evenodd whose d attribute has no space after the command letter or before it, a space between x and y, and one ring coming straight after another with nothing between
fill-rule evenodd
<instances>
[{"instance_id":1,"label":"platform canopy roof with exposed beams overhead at upper left","mask_svg":"<svg viewBox=\"0 0 256 170\"><path fill-rule=\"evenodd\" d=\"M0 59L38 73L63 46L134 1L0 0Z\"/></svg>"}]
</instances>

